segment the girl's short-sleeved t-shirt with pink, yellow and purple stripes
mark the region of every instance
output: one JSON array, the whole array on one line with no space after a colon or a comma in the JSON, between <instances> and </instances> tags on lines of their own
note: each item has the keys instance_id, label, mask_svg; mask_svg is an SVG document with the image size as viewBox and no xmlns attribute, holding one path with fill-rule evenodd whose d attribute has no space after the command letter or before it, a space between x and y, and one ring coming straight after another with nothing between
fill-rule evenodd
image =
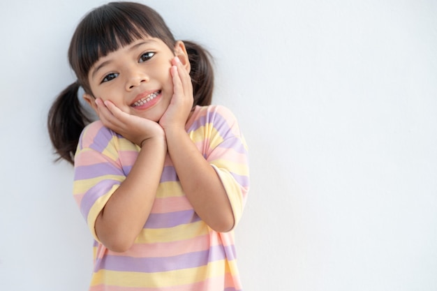
<instances>
[{"instance_id":1,"label":"girl's short-sleeved t-shirt with pink, yellow and purple stripes","mask_svg":"<svg viewBox=\"0 0 437 291\"><path fill-rule=\"evenodd\" d=\"M186 131L220 177L236 225L249 191L249 168L235 117L222 106L197 106ZM215 232L199 218L182 191L169 155L151 214L133 246L115 253L98 241L96 218L126 179L139 151L101 121L89 124L80 137L73 194L95 239L89 290L242 290L233 231Z\"/></svg>"}]
</instances>

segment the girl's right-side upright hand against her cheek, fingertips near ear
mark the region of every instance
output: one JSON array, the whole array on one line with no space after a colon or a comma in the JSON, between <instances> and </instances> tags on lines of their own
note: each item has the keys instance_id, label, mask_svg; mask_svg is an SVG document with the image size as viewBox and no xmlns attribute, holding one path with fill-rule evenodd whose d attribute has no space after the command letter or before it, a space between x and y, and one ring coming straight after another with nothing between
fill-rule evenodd
<instances>
[{"instance_id":1,"label":"girl's right-side upright hand against her cheek, fingertips near ear","mask_svg":"<svg viewBox=\"0 0 437 291\"><path fill-rule=\"evenodd\" d=\"M186 121L193 107L193 84L188 70L184 68L179 58L172 59L173 96L167 110L161 117L159 124L169 128L185 128Z\"/></svg>"}]
</instances>

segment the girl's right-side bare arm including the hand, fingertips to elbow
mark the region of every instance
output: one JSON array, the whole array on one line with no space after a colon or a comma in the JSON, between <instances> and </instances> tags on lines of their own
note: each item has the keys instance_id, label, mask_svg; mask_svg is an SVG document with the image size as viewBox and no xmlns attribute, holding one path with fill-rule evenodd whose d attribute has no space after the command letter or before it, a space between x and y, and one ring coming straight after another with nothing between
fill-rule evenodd
<instances>
[{"instance_id":1,"label":"girl's right-side bare arm including the hand, fingertips to elbow","mask_svg":"<svg viewBox=\"0 0 437 291\"><path fill-rule=\"evenodd\" d=\"M228 195L214 168L188 137L185 124L193 104L191 79L184 66L173 61L174 95L160 124L165 130L168 152L184 193L209 227L226 232L234 225Z\"/></svg>"}]
</instances>

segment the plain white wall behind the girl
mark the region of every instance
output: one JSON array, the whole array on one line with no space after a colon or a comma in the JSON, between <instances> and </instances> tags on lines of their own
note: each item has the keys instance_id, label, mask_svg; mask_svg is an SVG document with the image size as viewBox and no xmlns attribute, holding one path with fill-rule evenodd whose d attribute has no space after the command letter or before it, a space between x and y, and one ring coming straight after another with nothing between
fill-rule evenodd
<instances>
[{"instance_id":1,"label":"plain white wall behind the girl","mask_svg":"<svg viewBox=\"0 0 437 291\"><path fill-rule=\"evenodd\" d=\"M0 290L87 290L91 236L45 120L101 3L0 3ZM249 143L245 290L437 290L436 1L145 3L209 47Z\"/></svg>"}]
</instances>

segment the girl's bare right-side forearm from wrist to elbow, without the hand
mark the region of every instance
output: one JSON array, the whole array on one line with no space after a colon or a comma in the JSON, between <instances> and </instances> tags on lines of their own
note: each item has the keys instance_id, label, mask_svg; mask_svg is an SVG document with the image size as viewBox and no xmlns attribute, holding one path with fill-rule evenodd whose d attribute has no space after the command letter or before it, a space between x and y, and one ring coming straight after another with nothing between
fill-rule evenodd
<instances>
[{"instance_id":1,"label":"girl's bare right-side forearm from wrist to elbow, without the hand","mask_svg":"<svg viewBox=\"0 0 437 291\"><path fill-rule=\"evenodd\" d=\"M188 201L209 227L226 232L234 225L228 195L209 165L183 129L166 130L168 152Z\"/></svg>"}]
</instances>

